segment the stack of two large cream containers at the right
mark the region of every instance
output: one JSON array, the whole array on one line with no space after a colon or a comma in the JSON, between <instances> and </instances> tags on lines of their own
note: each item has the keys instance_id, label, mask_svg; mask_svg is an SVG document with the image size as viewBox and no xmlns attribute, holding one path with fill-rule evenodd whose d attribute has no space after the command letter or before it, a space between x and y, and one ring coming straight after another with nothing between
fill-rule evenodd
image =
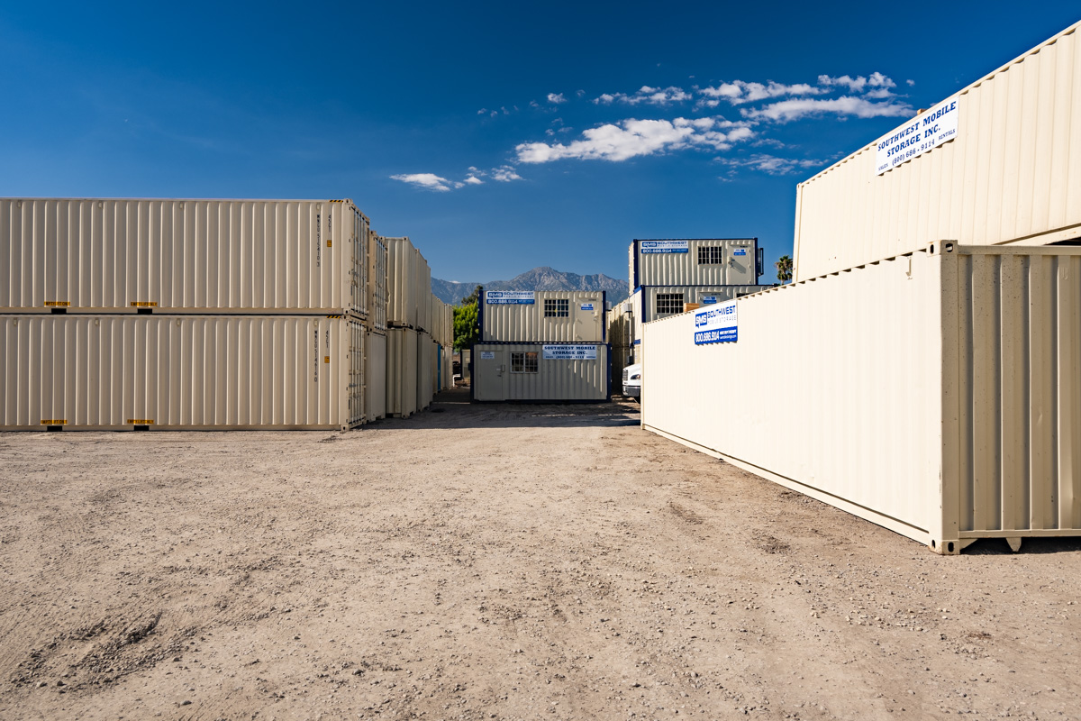
<instances>
[{"instance_id":1,"label":"stack of two large cream containers at the right","mask_svg":"<svg viewBox=\"0 0 1081 721\"><path fill-rule=\"evenodd\" d=\"M1081 536L1078 30L801 183L795 283L646 323L643 427L938 553Z\"/></svg>"}]
</instances>

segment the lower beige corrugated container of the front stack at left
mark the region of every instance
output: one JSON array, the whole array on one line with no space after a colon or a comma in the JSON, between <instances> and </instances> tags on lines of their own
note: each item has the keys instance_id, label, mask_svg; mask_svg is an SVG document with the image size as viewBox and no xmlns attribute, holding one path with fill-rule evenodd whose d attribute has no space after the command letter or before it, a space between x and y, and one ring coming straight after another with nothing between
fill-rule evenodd
<instances>
[{"instance_id":1,"label":"lower beige corrugated container of the front stack at left","mask_svg":"<svg viewBox=\"0 0 1081 721\"><path fill-rule=\"evenodd\" d=\"M364 418L357 320L0 316L4 429L346 429Z\"/></svg>"}]
</instances>

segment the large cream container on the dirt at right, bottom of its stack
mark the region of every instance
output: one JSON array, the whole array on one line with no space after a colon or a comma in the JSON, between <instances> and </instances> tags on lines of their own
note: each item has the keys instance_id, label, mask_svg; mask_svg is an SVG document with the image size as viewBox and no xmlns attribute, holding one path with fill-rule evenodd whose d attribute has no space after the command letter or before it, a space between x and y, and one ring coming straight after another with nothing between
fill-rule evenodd
<instances>
[{"instance_id":1,"label":"large cream container on the dirt at right, bottom of its stack","mask_svg":"<svg viewBox=\"0 0 1081 721\"><path fill-rule=\"evenodd\" d=\"M645 428L938 552L1081 534L1081 249L936 244L736 307L734 343L645 324Z\"/></svg>"}]
</instances>

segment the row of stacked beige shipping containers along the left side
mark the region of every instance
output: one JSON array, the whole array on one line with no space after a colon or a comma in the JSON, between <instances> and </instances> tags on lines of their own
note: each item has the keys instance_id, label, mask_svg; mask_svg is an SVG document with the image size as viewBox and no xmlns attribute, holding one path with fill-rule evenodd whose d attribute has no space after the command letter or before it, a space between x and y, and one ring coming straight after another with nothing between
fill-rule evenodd
<instances>
[{"instance_id":1,"label":"row of stacked beige shipping containers along the left side","mask_svg":"<svg viewBox=\"0 0 1081 721\"><path fill-rule=\"evenodd\" d=\"M347 429L388 414L389 333L429 369L410 412L453 345L349 200L3 199L0 256L5 429Z\"/></svg>"}]
</instances>

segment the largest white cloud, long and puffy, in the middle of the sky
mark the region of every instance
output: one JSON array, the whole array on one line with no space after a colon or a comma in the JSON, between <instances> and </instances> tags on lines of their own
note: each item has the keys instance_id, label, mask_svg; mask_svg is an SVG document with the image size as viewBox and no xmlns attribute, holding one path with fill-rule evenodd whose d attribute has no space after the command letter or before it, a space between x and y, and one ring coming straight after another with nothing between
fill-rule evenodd
<instances>
[{"instance_id":1,"label":"largest white cloud, long and puffy, in the middle of the sky","mask_svg":"<svg viewBox=\"0 0 1081 721\"><path fill-rule=\"evenodd\" d=\"M723 118L676 118L675 120L623 120L618 124L591 128L583 139L570 144L522 143L516 146L519 162L546 163L563 158L620 161L685 148L726 150L755 132L745 122Z\"/></svg>"}]
</instances>

